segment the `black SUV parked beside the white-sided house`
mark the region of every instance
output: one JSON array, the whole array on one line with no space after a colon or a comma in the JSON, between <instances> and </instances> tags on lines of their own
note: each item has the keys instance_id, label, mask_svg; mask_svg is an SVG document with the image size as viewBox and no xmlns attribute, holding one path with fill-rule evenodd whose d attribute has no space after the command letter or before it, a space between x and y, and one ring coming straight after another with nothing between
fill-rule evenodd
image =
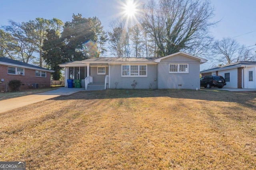
<instances>
[{"instance_id":1,"label":"black SUV parked beside the white-sided house","mask_svg":"<svg viewBox=\"0 0 256 170\"><path fill-rule=\"evenodd\" d=\"M218 87L222 88L226 85L226 80L222 76L205 76L200 78L200 87L211 88Z\"/></svg>"}]
</instances>

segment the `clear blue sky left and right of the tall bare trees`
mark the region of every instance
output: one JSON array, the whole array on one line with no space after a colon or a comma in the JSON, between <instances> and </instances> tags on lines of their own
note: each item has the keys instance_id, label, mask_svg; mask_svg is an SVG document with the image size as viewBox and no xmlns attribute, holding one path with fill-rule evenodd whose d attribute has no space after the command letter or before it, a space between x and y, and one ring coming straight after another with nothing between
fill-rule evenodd
<instances>
[{"instance_id":1,"label":"clear blue sky left and right of the tall bare trees","mask_svg":"<svg viewBox=\"0 0 256 170\"><path fill-rule=\"evenodd\" d=\"M8 20L26 22L37 17L58 18L66 22L72 20L73 13L80 13L86 18L98 17L104 29L108 31L109 21L122 12L121 4L124 2L125 0L0 0L0 26L8 25ZM216 39L234 37L238 43L246 47L255 45L256 0L211 0L211 2L215 9L212 21L221 20L211 29ZM210 61L201 69L209 66Z\"/></svg>"}]
</instances>

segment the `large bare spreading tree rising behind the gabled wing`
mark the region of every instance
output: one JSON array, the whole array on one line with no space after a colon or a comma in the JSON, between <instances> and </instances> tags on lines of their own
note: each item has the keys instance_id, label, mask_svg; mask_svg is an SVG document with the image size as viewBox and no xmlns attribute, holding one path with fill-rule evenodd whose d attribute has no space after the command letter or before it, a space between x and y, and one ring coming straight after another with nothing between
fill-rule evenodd
<instances>
[{"instance_id":1,"label":"large bare spreading tree rising behind the gabled wing","mask_svg":"<svg viewBox=\"0 0 256 170\"><path fill-rule=\"evenodd\" d=\"M202 55L212 41L208 28L214 14L207 0L151 0L141 15L159 57L178 51Z\"/></svg>"}]
</instances>

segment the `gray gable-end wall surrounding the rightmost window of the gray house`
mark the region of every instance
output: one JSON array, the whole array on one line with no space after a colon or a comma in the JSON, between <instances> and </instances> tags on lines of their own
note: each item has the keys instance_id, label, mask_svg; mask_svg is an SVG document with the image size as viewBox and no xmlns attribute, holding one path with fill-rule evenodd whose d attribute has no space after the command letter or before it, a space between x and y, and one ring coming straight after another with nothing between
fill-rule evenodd
<instances>
[{"instance_id":1,"label":"gray gable-end wall surrounding the rightmost window of the gray house","mask_svg":"<svg viewBox=\"0 0 256 170\"><path fill-rule=\"evenodd\" d=\"M169 73L169 64L189 64L189 73ZM180 85L180 86L179 86ZM200 62L190 57L177 55L163 59L158 64L159 89L200 89Z\"/></svg>"}]
</instances>

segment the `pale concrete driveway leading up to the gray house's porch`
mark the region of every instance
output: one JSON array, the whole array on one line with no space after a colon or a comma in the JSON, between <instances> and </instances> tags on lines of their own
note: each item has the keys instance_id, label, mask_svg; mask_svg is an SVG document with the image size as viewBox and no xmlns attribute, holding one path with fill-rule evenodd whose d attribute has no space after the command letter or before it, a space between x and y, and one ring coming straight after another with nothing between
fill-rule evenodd
<instances>
[{"instance_id":1,"label":"pale concrete driveway leading up to the gray house's porch","mask_svg":"<svg viewBox=\"0 0 256 170\"><path fill-rule=\"evenodd\" d=\"M58 88L48 92L32 94L28 96L22 96L18 98L12 98L0 101L0 113L9 111L29 104L41 102L58 96L68 96L70 94L84 90L84 88Z\"/></svg>"}]
</instances>

